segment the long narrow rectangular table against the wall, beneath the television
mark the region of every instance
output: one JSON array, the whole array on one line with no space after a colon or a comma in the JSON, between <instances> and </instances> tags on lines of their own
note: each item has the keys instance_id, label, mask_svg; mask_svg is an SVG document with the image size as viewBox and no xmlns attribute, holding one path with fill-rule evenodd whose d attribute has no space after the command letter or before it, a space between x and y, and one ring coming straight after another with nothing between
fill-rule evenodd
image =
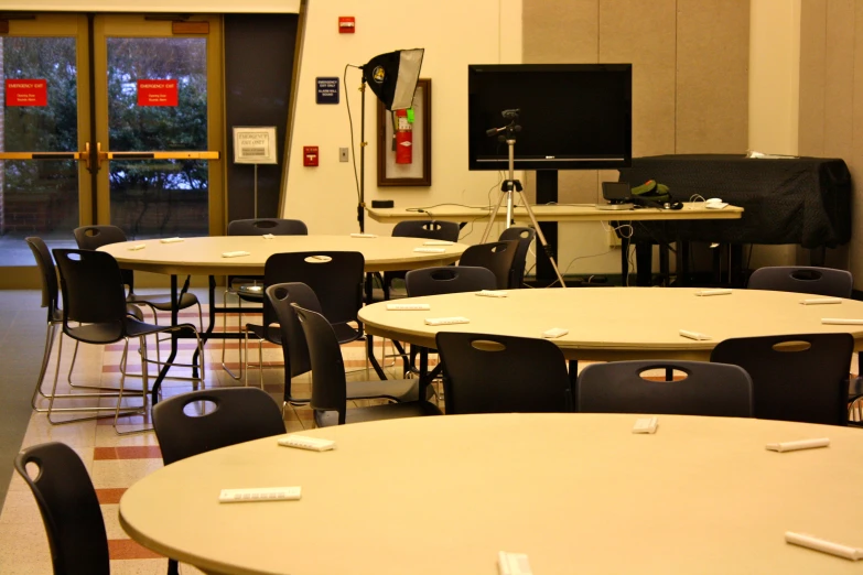
<instances>
[{"instance_id":1,"label":"long narrow rectangular table against the wall, beneath the television","mask_svg":"<svg viewBox=\"0 0 863 575\"><path fill-rule=\"evenodd\" d=\"M670 221L670 220L716 220L741 219L743 208L725 206L722 209L708 208L704 202L684 202L680 209L633 208L623 210L601 209L594 204L552 204L531 206L537 221L614 221L618 226L632 221ZM395 224L404 220L436 219L441 221L477 221L492 215L490 207L463 206L457 204L441 204L428 207L408 208L367 208L368 215L375 221ZM527 209L515 207L513 218L516 223L530 224ZM499 208L495 214L496 221L506 221L506 209ZM629 238L633 234L621 234L621 276L622 284L628 285L629 278ZM557 249L554 249L557 252ZM687 250L677 250L677 269L687 267ZM662 267L667 268L665 252ZM682 274L681 274L682 278Z\"/></svg>"}]
</instances>

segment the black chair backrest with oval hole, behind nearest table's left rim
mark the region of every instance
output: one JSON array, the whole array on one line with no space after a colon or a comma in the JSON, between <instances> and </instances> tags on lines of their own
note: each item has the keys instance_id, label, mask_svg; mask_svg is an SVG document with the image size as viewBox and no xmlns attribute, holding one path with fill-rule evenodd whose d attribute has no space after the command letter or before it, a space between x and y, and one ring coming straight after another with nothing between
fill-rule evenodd
<instances>
[{"instance_id":1,"label":"black chair backrest with oval hole, behind nearest table's left rim","mask_svg":"<svg viewBox=\"0 0 863 575\"><path fill-rule=\"evenodd\" d=\"M190 415L202 402L201 412ZM192 391L153 406L153 428L165 465L219 447L284 433L279 405L258 388Z\"/></svg>"}]
</instances>

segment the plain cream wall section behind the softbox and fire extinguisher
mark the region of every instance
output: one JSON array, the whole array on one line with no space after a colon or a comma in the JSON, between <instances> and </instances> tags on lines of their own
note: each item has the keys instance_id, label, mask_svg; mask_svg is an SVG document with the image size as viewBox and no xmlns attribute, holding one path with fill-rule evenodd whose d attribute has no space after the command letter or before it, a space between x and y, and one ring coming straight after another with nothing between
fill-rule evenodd
<instances>
[{"instance_id":1,"label":"plain cream wall section behind the softbox and fire extinguisher","mask_svg":"<svg viewBox=\"0 0 863 575\"><path fill-rule=\"evenodd\" d=\"M338 34L339 15L356 18L355 34ZM343 77L345 64L398 48L424 47L420 74L432 80L432 186L378 187L375 113L377 100L366 98L366 203L392 199L397 206L441 203L486 205L496 198L496 172L467 171L467 64L514 63L521 58L520 0L439 0L433 7L396 9L385 0L310 0L296 113L291 140L284 215L306 221L311 234L357 231L353 163L338 162L338 148L350 145L345 100L350 102L359 162L359 70L349 68L338 106L314 102L317 76ZM302 166L302 147L320 148L320 166ZM353 152L352 152L353 156ZM476 243L484 224L465 230ZM390 234L390 225L366 218L366 231Z\"/></svg>"}]
</instances>

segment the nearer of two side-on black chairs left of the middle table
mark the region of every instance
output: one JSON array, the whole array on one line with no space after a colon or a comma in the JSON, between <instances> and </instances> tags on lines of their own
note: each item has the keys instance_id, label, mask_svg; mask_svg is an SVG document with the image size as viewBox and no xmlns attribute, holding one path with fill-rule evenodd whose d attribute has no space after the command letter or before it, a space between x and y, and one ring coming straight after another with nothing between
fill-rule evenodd
<instances>
[{"instance_id":1,"label":"nearer of two side-on black chairs left of the middle table","mask_svg":"<svg viewBox=\"0 0 863 575\"><path fill-rule=\"evenodd\" d=\"M292 304L305 334L312 364L312 398L314 421L319 427L360 421L391 420L420 415L440 415L441 411L425 400L404 401L386 405L347 409L348 386L342 349L327 319L311 310ZM387 381L386 383L390 383Z\"/></svg>"}]
</instances>

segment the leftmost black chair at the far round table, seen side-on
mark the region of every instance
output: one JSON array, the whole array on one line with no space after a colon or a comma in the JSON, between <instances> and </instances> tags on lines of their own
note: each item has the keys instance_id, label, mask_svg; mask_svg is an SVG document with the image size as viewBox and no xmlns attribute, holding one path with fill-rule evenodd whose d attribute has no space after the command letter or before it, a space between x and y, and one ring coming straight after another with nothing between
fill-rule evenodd
<instances>
[{"instance_id":1,"label":"leftmost black chair at the far round table, seen side-on","mask_svg":"<svg viewBox=\"0 0 863 575\"><path fill-rule=\"evenodd\" d=\"M56 337L57 327L63 325L63 310L60 307L60 284L57 283L57 271L54 265L54 258L51 257L51 251L45 242L37 237L25 238L26 245L33 252L33 258L36 260L36 267L39 268L40 279L42 280L42 307L47 308L47 329L45 333L45 350L42 355L42 366L39 370L39 378L36 384L33 388L33 395L30 399L30 404L34 411L44 413L48 410L45 408L39 408L36 405L36 398L42 397L50 400L52 397L55 399L82 399L82 398L104 398L116 397L116 393L63 393L48 395L42 390L42 382L45 379L45 371L47 370L48 362L51 361L51 351L54 347L54 339ZM126 306L126 312L138 319L143 319L141 310L132 304ZM86 388L86 389L99 389L103 391L117 391L116 388L106 388L103 386L76 386L72 382L72 371L75 367L75 357L77 355L78 346L75 345L75 354L72 358L69 366L68 383L72 388ZM60 355L57 355L57 364L60 364ZM63 411L66 413L93 411L89 408L62 408L56 411Z\"/></svg>"}]
</instances>

